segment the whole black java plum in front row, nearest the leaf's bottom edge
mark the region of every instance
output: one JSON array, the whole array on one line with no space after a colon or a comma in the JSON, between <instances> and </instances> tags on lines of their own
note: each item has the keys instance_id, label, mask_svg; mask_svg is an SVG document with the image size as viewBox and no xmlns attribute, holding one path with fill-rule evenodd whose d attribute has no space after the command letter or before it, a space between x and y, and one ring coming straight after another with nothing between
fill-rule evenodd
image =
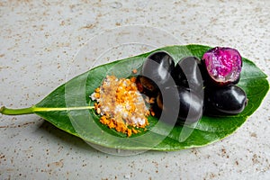
<instances>
[{"instance_id":1,"label":"whole black java plum in front row, nearest the leaf's bottom edge","mask_svg":"<svg viewBox=\"0 0 270 180\"><path fill-rule=\"evenodd\" d=\"M173 89L176 88L176 93ZM163 96L166 95L166 99ZM166 103L165 103L166 101ZM203 99L184 86L166 87L162 94L157 95L157 106L162 113L177 114L177 119L184 123L193 123L202 118ZM167 120L168 122L174 120Z\"/></svg>"}]
</instances>

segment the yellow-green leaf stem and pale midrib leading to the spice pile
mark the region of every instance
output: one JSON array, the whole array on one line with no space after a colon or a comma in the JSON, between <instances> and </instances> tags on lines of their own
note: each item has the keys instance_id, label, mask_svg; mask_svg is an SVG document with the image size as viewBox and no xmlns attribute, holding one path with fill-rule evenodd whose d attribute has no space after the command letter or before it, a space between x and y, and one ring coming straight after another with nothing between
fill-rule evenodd
<instances>
[{"instance_id":1,"label":"yellow-green leaf stem and pale midrib leading to the spice pile","mask_svg":"<svg viewBox=\"0 0 270 180\"><path fill-rule=\"evenodd\" d=\"M34 112L58 112L58 111L72 111L72 110L87 110L94 109L94 106L78 106L78 107L36 107L31 106L23 109L9 109L1 107L0 113L5 115L23 115Z\"/></svg>"}]
</instances>

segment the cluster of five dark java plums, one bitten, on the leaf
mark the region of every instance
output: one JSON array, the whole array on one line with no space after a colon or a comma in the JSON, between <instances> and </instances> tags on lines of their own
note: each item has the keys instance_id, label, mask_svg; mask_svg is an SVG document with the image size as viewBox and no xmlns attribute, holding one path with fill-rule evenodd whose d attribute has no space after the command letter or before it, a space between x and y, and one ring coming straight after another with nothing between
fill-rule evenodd
<instances>
[{"instance_id":1,"label":"cluster of five dark java plums, one bitten, on the leaf","mask_svg":"<svg viewBox=\"0 0 270 180\"><path fill-rule=\"evenodd\" d=\"M236 85L241 68L237 49L216 47L202 59L185 57L176 65L166 51L156 51L144 61L138 79L143 93L156 98L159 112L177 113L179 121L193 123L203 113L237 114L244 110L247 94Z\"/></svg>"}]
</instances>

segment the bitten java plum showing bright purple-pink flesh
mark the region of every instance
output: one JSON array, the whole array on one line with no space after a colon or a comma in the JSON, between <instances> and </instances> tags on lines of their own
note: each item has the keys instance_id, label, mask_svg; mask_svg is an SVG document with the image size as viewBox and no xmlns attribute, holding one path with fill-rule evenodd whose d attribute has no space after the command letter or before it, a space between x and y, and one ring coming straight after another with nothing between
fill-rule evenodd
<instances>
[{"instance_id":1,"label":"bitten java plum showing bright purple-pink flesh","mask_svg":"<svg viewBox=\"0 0 270 180\"><path fill-rule=\"evenodd\" d=\"M217 85L237 84L242 68L242 58L237 49L216 47L202 56L211 80Z\"/></svg>"}]
</instances>

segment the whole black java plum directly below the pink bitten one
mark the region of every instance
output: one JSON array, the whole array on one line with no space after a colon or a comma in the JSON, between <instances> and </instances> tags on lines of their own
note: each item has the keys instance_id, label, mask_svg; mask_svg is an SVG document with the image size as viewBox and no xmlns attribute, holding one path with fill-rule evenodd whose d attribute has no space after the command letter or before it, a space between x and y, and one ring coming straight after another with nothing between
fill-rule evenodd
<instances>
[{"instance_id":1,"label":"whole black java plum directly below the pink bitten one","mask_svg":"<svg viewBox=\"0 0 270 180\"><path fill-rule=\"evenodd\" d=\"M204 97L206 112L238 114L247 105L247 94L237 85L206 87Z\"/></svg>"}]
</instances>

